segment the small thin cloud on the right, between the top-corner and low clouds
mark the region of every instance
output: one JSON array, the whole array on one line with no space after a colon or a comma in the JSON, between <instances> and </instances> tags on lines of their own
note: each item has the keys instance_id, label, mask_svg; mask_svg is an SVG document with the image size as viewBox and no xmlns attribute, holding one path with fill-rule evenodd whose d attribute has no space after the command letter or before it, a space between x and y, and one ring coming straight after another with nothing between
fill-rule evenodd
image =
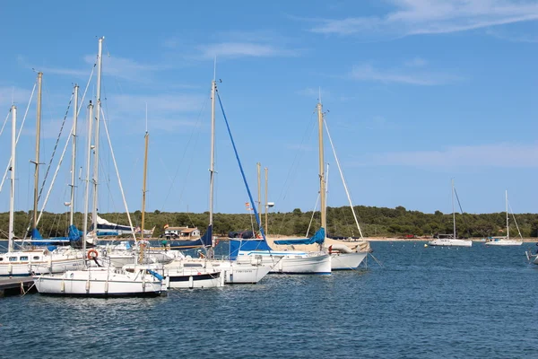
<instances>
[{"instance_id":1,"label":"small thin cloud on the right, between the top-corner and low clouds","mask_svg":"<svg viewBox=\"0 0 538 359\"><path fill-rule=\"evenodd\" d=\"M357 81L404 83L421 86L455 83L462 80L460 76L455 74L435 73L424 69L378 69L371 64L353 66L350 77Z\"/></svg>"}]
</instances>

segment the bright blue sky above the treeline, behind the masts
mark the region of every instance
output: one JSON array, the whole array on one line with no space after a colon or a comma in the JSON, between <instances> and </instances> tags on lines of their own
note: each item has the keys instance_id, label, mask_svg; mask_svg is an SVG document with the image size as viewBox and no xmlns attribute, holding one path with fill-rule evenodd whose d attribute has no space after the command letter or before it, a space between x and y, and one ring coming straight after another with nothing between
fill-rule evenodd
<instances>
[{"instance_id":1,"label":"bright blue sky above the treeline, behind the masts","mask_svg":"<svg viewBox=\"0 0 538 359\"><path fill-rule=\"evenodd\" d=\"M330 4L329 4L330 3ZM269 169L274 210L310 210L317 198L314 110L326 121L351 190L364 206L516 213L538 196L538 2L384 0L333 2L4 2L0 120L12 101L19 124L36 73L44 73L41 162L47 162L73 91L86 85L105 36L103 102L129 210L141 206L145 104L150 131L147 209L208 208L213 58L221 99L256 197L256 162ZM85 106L77 167L84 165ZM69 129L66 121L51 172ZM10 124L0 136L9 160ZM100 212L124 211L104 128ZM35 98L17 147L16 208L31 206ZM47 210L67 210L69 155ZM215 210L248 201L217 111ZM345 206L331 165L329 206ZM47 165L41 166L41 176ZM3 173L2 173L3 174ZM83 176L83 175L82 175ZM49 176L49 178L52 175ZM49 182L49 181L48 181ZM82 211L82 182L76 209ZM0 211L9 208L8 182Z\"/></svg>"}]
</instances>

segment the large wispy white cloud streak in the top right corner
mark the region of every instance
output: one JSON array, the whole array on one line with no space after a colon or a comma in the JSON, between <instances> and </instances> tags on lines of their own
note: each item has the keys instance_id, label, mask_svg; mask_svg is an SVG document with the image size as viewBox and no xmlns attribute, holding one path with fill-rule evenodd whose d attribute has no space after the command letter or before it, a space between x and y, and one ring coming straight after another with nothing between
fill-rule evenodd
<instances>
[{"instance_id":1,"label":"large wispy white cloud streak in the top right corner","mask_svg":"<svg viewBox=\"0 0 538 359\"><path fill-rule=\"evenodd\" d=\"M383 16L322 19L310 31L365 37L404 37L489 28L538 20L538 3L519 0L386 0Z\"/></svg>"}]
</instances>

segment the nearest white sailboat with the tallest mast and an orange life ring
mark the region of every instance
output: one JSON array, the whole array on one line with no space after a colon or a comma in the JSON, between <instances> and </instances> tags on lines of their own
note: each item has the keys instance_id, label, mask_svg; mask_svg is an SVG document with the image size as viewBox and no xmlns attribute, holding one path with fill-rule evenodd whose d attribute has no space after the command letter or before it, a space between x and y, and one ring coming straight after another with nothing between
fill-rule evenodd
<instances>
[{"instance_id":1,"label":"nearest white sailboat with the tallest mast and an orange life ring","mask_svg":"<svg viewBox=\"0 0 538 359\"><path fill-rule=\"evenodd\" d=\"M102 41L99 39L98 52L98 75L97 75L97 116L95 127L95 144L91 145L93 105L89 109L89 131L86 162L86 184L84 188L84 227L82 238L82 253L86 254L86 240L88 235L88 207L89 207L89 183L90 183L90 163L91 150L94 150L94 162L99 160L97 155L100 123L100 80L102 66ZM112 153L112 158L114 154ZM98 167L94 163L93 185L97 187ZM97 213L97 192L93 191L93 217ZM151 267L138 266L132 272L126 269L117 269L109 265L104 266L95 257L96 250L87 253L88 261L84 262L82 270L67 270L64 274L48 274L33 276L34 284L41 294L61 295L61 296L82 296L82 297L117 297L117 296L158 296L166 293L166 285L163 285L163 277L152 270ZM92 264L92 265L91 265Z\"/></svg>"}]
</instances>

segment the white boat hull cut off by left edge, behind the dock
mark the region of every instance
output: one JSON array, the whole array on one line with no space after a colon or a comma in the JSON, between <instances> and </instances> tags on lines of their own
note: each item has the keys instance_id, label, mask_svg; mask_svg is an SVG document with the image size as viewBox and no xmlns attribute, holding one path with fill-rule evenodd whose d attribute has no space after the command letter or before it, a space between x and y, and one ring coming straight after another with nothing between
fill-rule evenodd
<instances>
[{"instance_id":1,"label":"white boat hull cut off by left edge, behind the dock","mask_svg":"<svg viewBox=\"0 0 538 359\"><path fill-rule=\"evenodd\" d=\"M82 264L82 254L55 254L45 250L8 252L0 254L0 276L63 273L80 269Z\"/></svg>"}]
</instances>

